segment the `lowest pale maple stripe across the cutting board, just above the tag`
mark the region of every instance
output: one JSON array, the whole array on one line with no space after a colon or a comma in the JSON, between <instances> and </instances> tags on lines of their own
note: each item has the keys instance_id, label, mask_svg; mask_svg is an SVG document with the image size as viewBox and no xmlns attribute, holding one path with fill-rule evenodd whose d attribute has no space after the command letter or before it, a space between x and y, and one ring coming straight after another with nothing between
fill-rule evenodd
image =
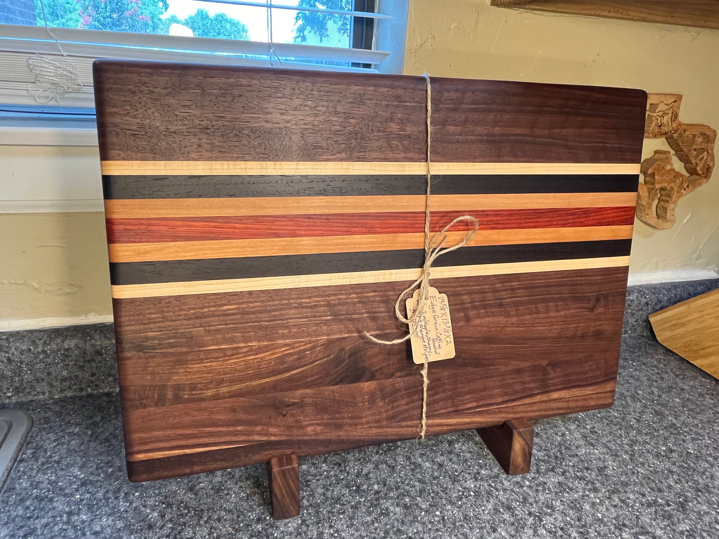
<instances>
[{"instance_id":1,"label":"lowest pale maple stripe across the cutting board, just above the tag","mask_svg":"<svg viewBox=\"0 0 719 539\"><path fill-rule=\"evenodd\" d=\"M436 267L432 269L432 277L434 279L447 279L451 277L475 277L479 275L587 270L597 267L623 267L628 265L629 257L475 264L472 266ZM242 292L246 290L276 290L280 288L359 285L368 282L412 281L419 277L420 272L421 270L419 268L413 268L412 270L290 275L288 277L252 277L248 279L160 282L150 285L112 285L111 289L112 297L116 299L157 298L168 295L216 294L221 292Z\"/></svg>"}]
</instances>

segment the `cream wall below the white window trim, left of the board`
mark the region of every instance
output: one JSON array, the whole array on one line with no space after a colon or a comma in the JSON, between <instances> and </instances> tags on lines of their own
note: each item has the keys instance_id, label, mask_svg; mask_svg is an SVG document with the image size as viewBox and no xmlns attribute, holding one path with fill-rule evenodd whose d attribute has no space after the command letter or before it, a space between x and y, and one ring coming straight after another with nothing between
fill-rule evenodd
<instances>
[{"instance_id":1,"label":"cream wall below the white window trim, left of the board","mask_svg":"<svg viewBox=\"0 0 719 539\"><path fill-rule=\"evenodd\" d=\"M104 213L4 213L0 231L0 330L111 320Z\"/></svg>"}]
</instances>

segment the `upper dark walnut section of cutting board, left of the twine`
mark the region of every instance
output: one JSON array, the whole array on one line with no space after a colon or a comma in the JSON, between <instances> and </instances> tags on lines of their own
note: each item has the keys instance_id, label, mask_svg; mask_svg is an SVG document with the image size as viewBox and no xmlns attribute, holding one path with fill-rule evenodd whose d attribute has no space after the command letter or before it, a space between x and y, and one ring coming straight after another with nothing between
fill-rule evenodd
<instances>
[{"instance_id":1,"label":"upper dark walnut section of cutting board, left of the twine","mask_svg":"<svg viewBox=\"0 0 719 539\"><path fill-rule=\"evenodd\" d=\"M426 161L421 77L103 60L93 81L104 161Z\"/></svg>"}]
</instances>

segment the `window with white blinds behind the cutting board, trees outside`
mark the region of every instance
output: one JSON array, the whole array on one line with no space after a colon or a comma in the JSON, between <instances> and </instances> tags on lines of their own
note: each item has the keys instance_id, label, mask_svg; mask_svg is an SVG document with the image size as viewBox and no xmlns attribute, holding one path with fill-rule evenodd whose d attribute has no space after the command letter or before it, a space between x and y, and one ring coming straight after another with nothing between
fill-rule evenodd
<instances>
[{"instance_id":1,"label":"window with white blinds behind the cutting board, trees outside","mask_svg":"<svg viewBox=\"0 0 719 539\"><path fill-rule=\"evenodd\" d=\"M9 0L0 103L93 107L98 57L400 73L408 0Z\"/></svg>"}]
</instances>

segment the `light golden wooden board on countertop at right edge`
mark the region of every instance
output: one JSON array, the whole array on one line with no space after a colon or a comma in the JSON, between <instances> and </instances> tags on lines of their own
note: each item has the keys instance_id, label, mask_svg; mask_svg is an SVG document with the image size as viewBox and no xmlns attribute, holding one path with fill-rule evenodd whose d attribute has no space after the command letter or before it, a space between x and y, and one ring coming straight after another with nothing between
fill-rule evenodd
<instances>
[{"instance_id":1,"label":"light golden wooden board on countertop at right edge","mask_svg":"<svg viewBox=\"0 0 719 539\"><path fill-rule=\"evenodd\" d=\"M649 315L656 339L719 379L719 289Z\"/></svg>"}]
</instances>

